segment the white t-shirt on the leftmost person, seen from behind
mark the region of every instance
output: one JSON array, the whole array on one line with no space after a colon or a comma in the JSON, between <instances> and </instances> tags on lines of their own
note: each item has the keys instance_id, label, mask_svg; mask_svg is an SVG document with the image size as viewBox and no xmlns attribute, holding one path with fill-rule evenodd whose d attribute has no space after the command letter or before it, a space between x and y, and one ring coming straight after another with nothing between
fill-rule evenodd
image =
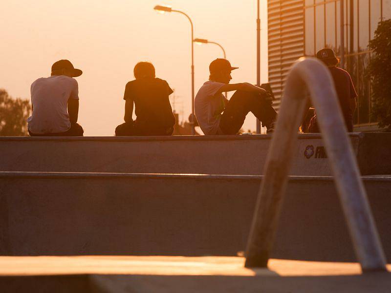
<instances>
[{"instance_id":1,"label":"white t-shirt on the leftmost person, seen from behind","mask_svg":"<svg viewBox=\"0 0 391 293\"><path fill-rule=\"evenodd\" d=\"M69 130L68 100L79 100L77 81L65 75L39 78L31 84L33 112L27 119L32 133L61 133Z\"/></svg>"}]
</instances>

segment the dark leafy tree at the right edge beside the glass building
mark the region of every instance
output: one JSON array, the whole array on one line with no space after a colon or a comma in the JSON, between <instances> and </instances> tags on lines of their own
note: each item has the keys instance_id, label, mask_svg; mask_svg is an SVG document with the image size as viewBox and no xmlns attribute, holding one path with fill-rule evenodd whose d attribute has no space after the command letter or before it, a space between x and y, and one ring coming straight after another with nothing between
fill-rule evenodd
<instances>
[{"instance_id":1,"label":"dark leafy tree at the right edge beside the glass building","mask_svg":"<svg viewBox=\"0 0 391 293\"><path fill-rule=\"evenodd\" d=\"M372 84L371 117L379 127L391 130L391 19L380 21L373 40L369 74Z\"/></svg>"}]
</instances>

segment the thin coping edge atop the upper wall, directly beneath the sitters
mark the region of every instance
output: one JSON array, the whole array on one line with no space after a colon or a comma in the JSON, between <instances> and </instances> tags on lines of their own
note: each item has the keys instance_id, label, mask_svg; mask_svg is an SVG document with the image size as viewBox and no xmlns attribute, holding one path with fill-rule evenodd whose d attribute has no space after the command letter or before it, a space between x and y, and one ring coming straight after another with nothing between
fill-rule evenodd
<instances>
[{"instance_id":1,"label":"thin coping edge atop the upper wall, directly beneath the sitters","mask_svg":"<svg viewBox=\"0 0 391 293\"><path fill-rule=\"evenodd\" d=\"M363 132L351 132L349 137L362 138ZM153 141L236 141L236 140L270 140L272 134L251 135L174 135L174 136L2 136L0 142L153 142ZM320 133L298 134L298 139L322 138Z\"/></svg>"}]
</instances>

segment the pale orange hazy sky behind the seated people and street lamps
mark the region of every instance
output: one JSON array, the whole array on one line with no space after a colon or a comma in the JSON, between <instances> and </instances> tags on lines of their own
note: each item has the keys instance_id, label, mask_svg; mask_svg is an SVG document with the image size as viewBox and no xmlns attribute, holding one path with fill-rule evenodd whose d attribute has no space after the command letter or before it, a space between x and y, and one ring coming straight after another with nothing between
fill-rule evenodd
<instances>
[{"instance_id":1,"label":"pale orange hazy sky behind the seated people and street lamps","mask_svg":"<svg viewBox=\"0 0 391 293\"><path fill-rule=\"evenodd\" d=\"M83 75L79 123L85 135L113 135L123 122L125 84L139 61L175 89L172 106L191 112L189 21L159 14L156 4L189 14L195 38L219 42L240 67L232 83L256 83L256 0L5 0L1 3L0 88L30 99L30 84L50 75L51 64L69 59ZM261 82L267 81L266 0L261 0ZM195 93L208 79L209 63L222 57L213 44L195 44ZM172 100L172 99L171 99ZM180 117L182 118L182 117ZM243 127L255 129L251 114Z\"/></svg>"}]
</instances>

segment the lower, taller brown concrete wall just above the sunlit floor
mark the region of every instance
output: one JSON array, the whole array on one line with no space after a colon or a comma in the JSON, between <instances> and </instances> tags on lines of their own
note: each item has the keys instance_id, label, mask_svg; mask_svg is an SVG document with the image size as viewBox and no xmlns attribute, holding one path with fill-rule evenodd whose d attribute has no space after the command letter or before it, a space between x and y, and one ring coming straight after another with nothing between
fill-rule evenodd
<instances>
[{"instance_id":1,"label":"lower, taller brown concrete wall just above the sunlit floor","mask_svg":"<svg viewBox=\"0 0 391 293\"><path fill-rule=\"evenodd\" d=\"M236 255L260 176L0 173L1 255ZM391 177L364 177L391 260ZM291 177L272 257L354 261L329 177Z\"/></svg>"}]
</instances>

